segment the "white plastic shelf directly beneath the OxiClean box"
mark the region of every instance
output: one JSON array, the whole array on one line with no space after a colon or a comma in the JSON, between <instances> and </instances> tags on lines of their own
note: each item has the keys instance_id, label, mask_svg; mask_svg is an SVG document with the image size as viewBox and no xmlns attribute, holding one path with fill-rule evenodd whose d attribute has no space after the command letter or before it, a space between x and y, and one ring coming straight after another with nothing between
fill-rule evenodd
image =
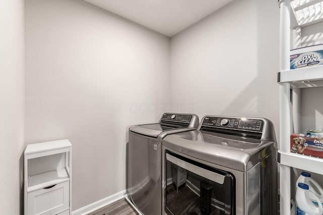
<instances>
[{"instance_id":1,"label":"white plastic shelf directly beneath the OxiClean box","mask_svg":"<svg viewBox=\"0 0 323 215\"><path fill-rule=\"evenodd\" d=\"M280 71L278 83L284 82L291 88L323 87L323 65Z\"/></svg>"}]
</instances>

